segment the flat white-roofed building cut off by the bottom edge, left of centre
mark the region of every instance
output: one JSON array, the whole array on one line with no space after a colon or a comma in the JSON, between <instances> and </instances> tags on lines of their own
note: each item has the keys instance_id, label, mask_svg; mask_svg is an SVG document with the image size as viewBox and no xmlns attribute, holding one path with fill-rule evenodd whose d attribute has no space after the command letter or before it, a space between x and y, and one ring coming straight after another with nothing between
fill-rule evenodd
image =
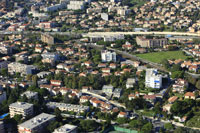
<instances>
[{"instance_id":1,"label":"flat white-roofed building cut off by the bottom edge, left of centre","mask_svg":"<svg viewBox=\"0 0 200 133\"><path fill-rule=\"evenodd\" d=\"M53 133L78 133L78 127L70 124L65 124L54 130Z\"/></svg>"}]
</instances>

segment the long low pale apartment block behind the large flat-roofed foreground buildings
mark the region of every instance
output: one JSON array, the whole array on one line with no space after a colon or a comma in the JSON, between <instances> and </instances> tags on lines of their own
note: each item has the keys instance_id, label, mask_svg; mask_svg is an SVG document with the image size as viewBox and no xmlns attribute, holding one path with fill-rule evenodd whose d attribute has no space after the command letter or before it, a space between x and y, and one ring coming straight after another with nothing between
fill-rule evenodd
<instances>
[{"instance_id":1,"label":"long low pale apartment block behind the large flat-roofed foreground buildings","mask_svg":"<svg viewBox=\"0 0 200 133\"><path fill-rule=\"evenodd\" d=\"M61 111L87 112L89 110L89 106L83 105L65 104L57 102L48 102L46 105L48 108L59 108Z\"/></svg>"}]
</instances>

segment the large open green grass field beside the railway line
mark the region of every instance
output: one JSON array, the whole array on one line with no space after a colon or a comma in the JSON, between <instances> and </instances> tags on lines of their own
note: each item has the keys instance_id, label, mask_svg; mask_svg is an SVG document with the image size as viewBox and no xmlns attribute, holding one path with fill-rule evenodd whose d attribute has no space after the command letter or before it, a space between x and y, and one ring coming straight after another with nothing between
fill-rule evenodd
<instances>
[{"instance_id":1,"label":"large open green grass field beside the railway line","mask_svg":"<svg viewBox=\"0 0 200 133\"><path fill-rule=\"evenodd\" d=\"M146 54L137 54L136 56L146 59L151 62L161 63L163 59L186 59L187 56L182 51L166 51L166 52L153 52Z\"/></svg>"}]
</instances>

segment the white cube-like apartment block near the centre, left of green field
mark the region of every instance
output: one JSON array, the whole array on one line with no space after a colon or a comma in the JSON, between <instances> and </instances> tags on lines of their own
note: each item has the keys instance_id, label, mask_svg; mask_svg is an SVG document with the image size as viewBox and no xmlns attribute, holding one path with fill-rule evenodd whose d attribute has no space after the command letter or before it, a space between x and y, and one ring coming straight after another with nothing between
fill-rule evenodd
<instances>
[{"instance_id":1,"label":"white cube-like apartment block near the centre, left of green field","mask_svg":"<svg viewBox=\"0 0 200 133\"><path fill-rule=\"evenodd\" d=\"M111 52L108 50L102 50L101 51L101 60L102 62L116 62L117 61L117 55L115 52Z\"/></svg>"}]
</instances>

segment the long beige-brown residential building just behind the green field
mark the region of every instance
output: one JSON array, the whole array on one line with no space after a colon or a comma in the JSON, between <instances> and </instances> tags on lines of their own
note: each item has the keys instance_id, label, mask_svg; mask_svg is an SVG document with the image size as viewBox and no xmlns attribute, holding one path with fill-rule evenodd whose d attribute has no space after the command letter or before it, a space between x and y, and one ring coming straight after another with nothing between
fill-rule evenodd
<instances>
[{"instance_id":1,"label":"long beige-brown residential building just behind the green field","mask_svg":"<svg viewBox=\"0 0 200 133\"><path fill-rule=\"evenodd\" d=\"M147 39L147 38L145 38L143 36L137 36L136 37L136 42L141 47L147 47L147 48L163 47L164 45L167 45L167 43L168 43L166 38L162 38L162 39Z\"/></svg>"}]
</instances>

